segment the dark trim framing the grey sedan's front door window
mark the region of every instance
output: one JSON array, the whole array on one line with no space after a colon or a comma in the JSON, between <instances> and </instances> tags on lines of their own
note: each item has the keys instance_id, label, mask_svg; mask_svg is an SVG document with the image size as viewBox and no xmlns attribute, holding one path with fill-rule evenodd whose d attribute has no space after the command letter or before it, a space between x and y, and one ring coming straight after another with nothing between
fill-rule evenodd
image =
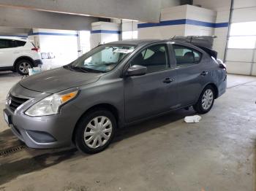
<instances>
[{"instance_id":1,"label":"dark trim framing the grey sedan's front door window","mask_svg":"<svg viewBox=\"0 0 256 191\"><path fill-rule=\"evenodd\" d=\"M143 52L143 50L146 50L148 47L153 47L153 46L157 46L157 45L165 45L166 47L166 50L167 50L167 68L166 69L162 69L162 70L159 70L159 71L165 71L165 70L170 70L170 69L173 69L171 67L171 63L170 63L170 47L169 47L169 43L168 42L154 42L154 43L150 43L150 44L146 44L145 46L141 47L139 50L137 50L135 52L134 55L132 55L131 58L129 58L129 61L127 61L127 64L124 66L123 68L123 74L125 71L127 71L127 69L129 69L129 67L131 66L131 62L134 58L136 58L136 56L138 56L141 52ZM152 71L152 72L147 72L146 74L154 74L156 72L159 72L159 71ZM145 74L145 75L146 75Z\"/></svg>"}]
</instances>

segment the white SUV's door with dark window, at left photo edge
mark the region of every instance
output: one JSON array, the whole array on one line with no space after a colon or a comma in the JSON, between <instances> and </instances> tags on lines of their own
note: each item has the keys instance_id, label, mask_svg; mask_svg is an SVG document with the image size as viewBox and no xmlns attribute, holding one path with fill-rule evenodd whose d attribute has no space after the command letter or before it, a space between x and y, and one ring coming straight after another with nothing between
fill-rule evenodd
<instances>
[{"instance_id":1,"label":"white SUV's door with dark window, at left photo edge","mask_svg":"<svg viewBox=\"0 0 256 191\"><path fill-rule=\"evenodd\" d=\"M10 39L0 39L0 67L13 66L15 47Z\"/></svg>"}]
</instances>

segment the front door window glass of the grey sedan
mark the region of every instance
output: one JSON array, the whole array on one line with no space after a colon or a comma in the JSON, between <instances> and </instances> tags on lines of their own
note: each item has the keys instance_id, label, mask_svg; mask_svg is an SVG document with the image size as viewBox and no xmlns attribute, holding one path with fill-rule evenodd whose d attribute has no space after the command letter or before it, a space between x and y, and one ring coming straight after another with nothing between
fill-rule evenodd
<instances>
[{"instance_id":1,"label":"front door window glass of the grey sedan","mask_svg":"<svg viewBox=\"0 0 256 191\"><path fill-rule=\"evenodd\" d=\"M132 65L146 66L148 73L169 68L166 45L158 44L148 47L132 60Z\"/></svg>"}]
</instances>

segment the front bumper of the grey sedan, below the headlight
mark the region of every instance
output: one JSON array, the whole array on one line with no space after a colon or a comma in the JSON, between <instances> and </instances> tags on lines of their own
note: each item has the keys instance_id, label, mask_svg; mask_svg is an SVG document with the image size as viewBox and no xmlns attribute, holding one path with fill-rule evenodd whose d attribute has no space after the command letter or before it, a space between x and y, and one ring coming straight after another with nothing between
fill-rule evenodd
<instances>
[{"instance_id":1,"label":"front bumper of the grey sedan, below the headlight","mask_svg":"<svg viewBox=\"0 0 256 191\"><path fill-rule=\"evenodd\" d=\"M10 114L12 133L28 147L50 149L72 144L75 122L69 122L67 117L61 117L61 114L51 117L29 117L25 114L12 113L8 107L4 112Z\"/></svg>"}]
</instances>

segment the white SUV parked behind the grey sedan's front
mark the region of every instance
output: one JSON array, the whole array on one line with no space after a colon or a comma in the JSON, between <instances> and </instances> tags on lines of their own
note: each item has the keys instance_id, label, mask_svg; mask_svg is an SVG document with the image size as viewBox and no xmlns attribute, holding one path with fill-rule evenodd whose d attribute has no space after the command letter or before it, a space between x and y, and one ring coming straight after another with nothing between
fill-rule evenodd
<instances>
[{"instance_id":1,"label":"white SUV parked behind the grey sedan's front","mask_svg":"<svg viewBox=\"0 0 256 191\"><path fill-rule=\"evenodd\" d=\"M42 64L38 48L29 39L0 36L0 71L29 74L29 69Z\"/></svg>"}]
</instances>

